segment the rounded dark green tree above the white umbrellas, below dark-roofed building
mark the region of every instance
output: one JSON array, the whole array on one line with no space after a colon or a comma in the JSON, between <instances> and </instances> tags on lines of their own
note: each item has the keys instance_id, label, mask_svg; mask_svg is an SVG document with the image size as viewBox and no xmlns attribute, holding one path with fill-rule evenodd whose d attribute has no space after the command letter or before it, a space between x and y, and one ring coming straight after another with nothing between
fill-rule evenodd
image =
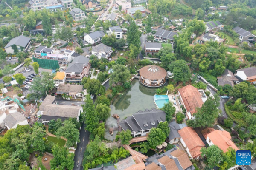
<instances>
[{"instance_id":1,"label":"rounded dark green tree above the white umbrellas, below dark-roofed building","mask_svg":"<svg viewBox=\"0 0 256 170\"><path fill-rule=\"evenodd\" d=\"M166 135L163 133L161 129L152 128L148 135L148 142L150 146L157 147L162 144L166 139Z\"/></svg>"}]
</instances>

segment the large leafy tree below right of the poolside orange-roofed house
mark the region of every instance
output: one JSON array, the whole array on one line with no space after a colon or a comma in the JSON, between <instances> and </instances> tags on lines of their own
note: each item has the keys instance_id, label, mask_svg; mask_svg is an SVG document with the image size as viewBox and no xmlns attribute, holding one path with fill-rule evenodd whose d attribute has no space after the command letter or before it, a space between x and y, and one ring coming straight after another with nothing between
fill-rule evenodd
<instances>
[{"instance_id":1,"label":"large leafy tree below right of the poolside orange-roofed house","mask_svg":"<svg viewBox=\"0 0 256 170\"><path fill-rule=\"evenodd\" d=\"M215 95L215 98L209 97L201 108L197 109L197 112L193 114L194 120L188 120L188 125L191 127L210 127L214 124L215 118L217 118L219 110L219 97Z\"/></svg>"}]
</instances>

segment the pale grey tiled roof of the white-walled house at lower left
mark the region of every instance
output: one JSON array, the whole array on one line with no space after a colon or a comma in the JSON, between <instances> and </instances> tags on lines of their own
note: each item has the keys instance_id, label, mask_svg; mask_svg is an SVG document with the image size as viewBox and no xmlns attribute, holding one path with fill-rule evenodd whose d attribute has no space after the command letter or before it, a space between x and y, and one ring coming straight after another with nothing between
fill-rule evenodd
<instances>
[{"instance_id":1,"label":"pale grey tiled roof of the white-walled house at lower left","mask_svg":"<svg viewBox=\"0 0 256 170\"><path fill-rule=\"evenodd\" d=\"M11 129L16 123L26 120L26 117L23 116L20 112L9 113L3 122Z\"/></svg>"}]
</instances>

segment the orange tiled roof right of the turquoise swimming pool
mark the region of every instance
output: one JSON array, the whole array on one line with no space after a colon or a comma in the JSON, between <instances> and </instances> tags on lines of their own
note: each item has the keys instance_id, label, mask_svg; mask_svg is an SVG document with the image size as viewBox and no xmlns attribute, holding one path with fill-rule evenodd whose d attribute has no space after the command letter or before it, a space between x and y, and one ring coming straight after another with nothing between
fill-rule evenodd
<instances>
[{"instance_id":1,"label":"orange tiled roof right of the turquoise swimming pool","mask_svg":"<svg viewBox=\"0 0 256 170\"><path fill-rule=\"evenodd\" d=\"M204 104L198 89L192 85L179 88L178 91L180 92L180 96L183 100L186 110L190 111L191 115L196 113L196 108L201 108Z\"/></svg>"}]
</instances>

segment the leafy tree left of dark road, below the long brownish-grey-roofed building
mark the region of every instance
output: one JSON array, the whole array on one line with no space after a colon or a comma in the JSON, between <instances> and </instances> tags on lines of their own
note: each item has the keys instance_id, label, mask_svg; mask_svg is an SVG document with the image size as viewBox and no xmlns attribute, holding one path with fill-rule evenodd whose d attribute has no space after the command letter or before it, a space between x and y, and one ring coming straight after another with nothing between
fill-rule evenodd
<instances>
[{"instance_id":1,"label":"leafy tree left of dark road, below the long brownish-grey-roofed building","mask_svg":"<svg viewBox=\"0 0 256 170\"><path fill-rule=\"evenodd\" d=\"M60 127L56 132L56 136L58 138L63 136L64 138L67 139L67 143L66 143L67 147L74 146L76 142L80 142L79 135L80 135L79 130L76 128L76 126L72 122L68 120L65 120L64 126Z\"/></svg>"}]
</instances>

